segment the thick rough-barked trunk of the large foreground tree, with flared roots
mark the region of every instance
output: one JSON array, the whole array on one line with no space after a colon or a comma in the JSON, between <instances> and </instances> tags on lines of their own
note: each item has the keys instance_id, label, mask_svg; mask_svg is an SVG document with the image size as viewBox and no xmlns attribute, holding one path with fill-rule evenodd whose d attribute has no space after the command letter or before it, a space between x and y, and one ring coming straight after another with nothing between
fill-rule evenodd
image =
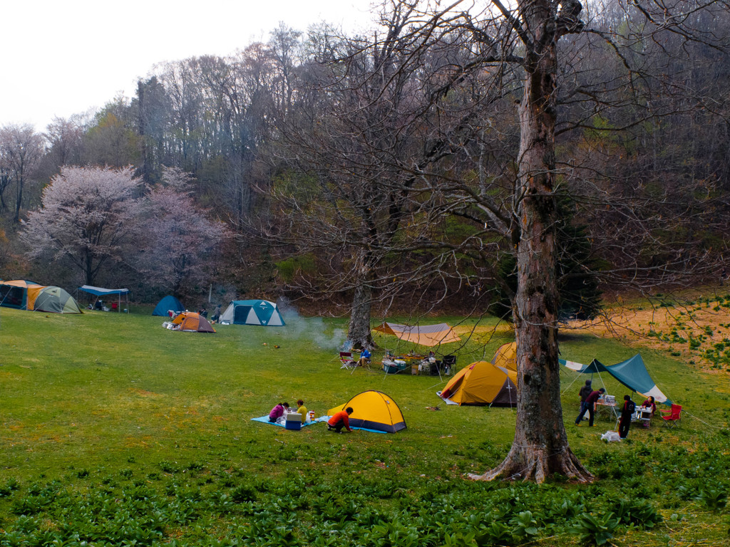
<instances>
[{"instance_id":1,"label":"thick rough-barked trunk of the large foreground tree, with flared roots","mask_svg":"<svg viewBox=\"0 0 730 547\"><path fill-rule=\"evenodd\" d=\"M520 478L542 483L553 473L590 482L570 450L560 400L558 288L556 284L556 33L549 1L526 2L531 34L520 114L519 174L515 188L518 290L513 314L517 336L518 406L515 440L507 458L477 480Z\"/></svg>"}]
</instances>

